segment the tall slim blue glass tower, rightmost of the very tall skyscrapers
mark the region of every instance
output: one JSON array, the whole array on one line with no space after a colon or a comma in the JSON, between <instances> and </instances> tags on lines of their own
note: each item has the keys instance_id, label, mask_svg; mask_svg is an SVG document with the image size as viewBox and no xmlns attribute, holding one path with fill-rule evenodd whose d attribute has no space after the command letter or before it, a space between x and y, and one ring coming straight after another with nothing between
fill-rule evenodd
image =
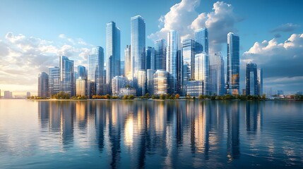
<instances>
[{"instance_id":1,"label":"tall slim blue glass tower, rightmost of the very tall skyscrapers","mask_svg":"<svg viewBox=\"0 0 303 169\"><path fill-rule=\"evenodd\" d=\"M227 34L227 94L239 94L239 36Z\"/></svg>"}]
</instances>

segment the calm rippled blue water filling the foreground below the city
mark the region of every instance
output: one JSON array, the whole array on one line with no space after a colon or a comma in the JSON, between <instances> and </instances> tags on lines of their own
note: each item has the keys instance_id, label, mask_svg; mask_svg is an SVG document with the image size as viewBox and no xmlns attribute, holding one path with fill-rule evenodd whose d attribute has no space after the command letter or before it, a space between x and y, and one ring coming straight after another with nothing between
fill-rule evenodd
<instances>
[{"instance_id":1,"label":"calm rippled blue water filling the foreground below the city","mask_svg":"<svg viewBox=\"0 0 303 169\"><path fill-rule=\"evenodd\" d=\"M0 100L0 168L303 168L303 102Z\"/></svg>"}]
</instances>

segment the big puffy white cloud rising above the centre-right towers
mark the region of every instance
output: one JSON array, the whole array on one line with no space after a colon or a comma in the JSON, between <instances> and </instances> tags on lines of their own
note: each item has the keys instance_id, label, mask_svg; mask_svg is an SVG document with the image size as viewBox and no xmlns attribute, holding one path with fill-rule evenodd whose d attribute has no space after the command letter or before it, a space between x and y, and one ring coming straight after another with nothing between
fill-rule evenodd
<instances>
[{"instance_id":1,"label":"big puffy white cloud rising above the centre-right towers","mask_svg":"<svg viewBox=\"0 0 303 169\"><path fill-rule=\"evenodd\" d=\"M228 32L237 32L234 24L241 21L237 18L231 4L217 1L210 13L198 13L196 7L200 1L183 0L170 8L170 12L160 17L160 25L164 25L158 32L148 38L166 39L167 32L177 30L181 39L194 37L194 31L203 27L208 28L210 51L220 51L222 43L227 42Z\"/></svg>"}]
</instances>

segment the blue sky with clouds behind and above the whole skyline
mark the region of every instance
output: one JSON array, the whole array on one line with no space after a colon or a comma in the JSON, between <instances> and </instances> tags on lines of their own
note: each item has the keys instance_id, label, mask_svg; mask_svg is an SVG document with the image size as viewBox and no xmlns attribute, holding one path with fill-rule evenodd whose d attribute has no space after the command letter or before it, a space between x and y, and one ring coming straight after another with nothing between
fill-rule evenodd
<instances>
[{"instance_id":1,"label":"blue sky with clouds behind and above the whole skyline","mask_svg":"<svg viewBox=\"0 0 303 169\"><path fill-rule=\"evenodd\" d=\"M263 92L303 91L303 1L1 0L0 89L37 94L37 77L68 56L86 65L94 46L105 49L106 23L121 29L121 60L130 44L130 20L141 15L146 46L177 30L181 39L208 27L210 52L226 60L227 33L240 37L240 89L248 61L263 68ZM105 51L106 53L106 51Z\"/></svg>"}]
</instances>

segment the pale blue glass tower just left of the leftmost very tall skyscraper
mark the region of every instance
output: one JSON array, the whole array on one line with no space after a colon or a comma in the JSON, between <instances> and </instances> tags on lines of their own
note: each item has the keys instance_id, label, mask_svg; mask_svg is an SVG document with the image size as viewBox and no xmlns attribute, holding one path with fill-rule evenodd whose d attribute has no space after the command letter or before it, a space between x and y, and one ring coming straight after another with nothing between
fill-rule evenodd
<instances>
[{"instance_id":1,"label":"pale blue glass tower just left of the leftmost very tall skyscraper","mask_svg":"<svg viewBox=\"0 0 303 169\"><path fill-rule=\"evenodd\" d=\"M97 46L88 56L88 97L104 94L104 51Z\"/></svg>"}]
</instances>

